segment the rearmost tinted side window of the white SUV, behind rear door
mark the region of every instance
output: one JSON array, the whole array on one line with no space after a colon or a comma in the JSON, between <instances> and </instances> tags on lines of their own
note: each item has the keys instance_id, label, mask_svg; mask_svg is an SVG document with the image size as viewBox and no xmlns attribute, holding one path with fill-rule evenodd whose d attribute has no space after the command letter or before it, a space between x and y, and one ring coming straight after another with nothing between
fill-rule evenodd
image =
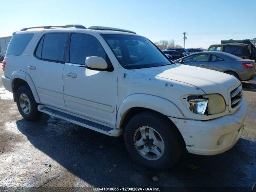
<instances>
[{"instance_id":1,"label":"rearmost tinted side window of the white SUV, behind rear door","mask_svg":"<svg viewBox=\"0 0 256 192\"><path fill-rule=\"evenodd\" d=\"M6 55L21 55L33 36L33 33L14 35L8 45Z\"/></svg>"}]
</instances>

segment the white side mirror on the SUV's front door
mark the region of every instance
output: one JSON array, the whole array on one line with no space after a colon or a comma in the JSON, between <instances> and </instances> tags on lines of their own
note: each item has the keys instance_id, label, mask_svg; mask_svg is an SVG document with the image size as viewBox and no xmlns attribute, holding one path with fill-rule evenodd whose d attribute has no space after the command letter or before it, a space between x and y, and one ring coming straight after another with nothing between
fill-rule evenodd
<instances>
[{"instance_id":1,"label":"white side mirror on the SUV's front door","mask_svg":"<svg viewBox=\"0 0 256 192\"><path fill-rule=\"evenodd\" d=\"M96 71L113 71L102 57L96 56L86 57L85 67Z\"/></svg>"}]
</instances>

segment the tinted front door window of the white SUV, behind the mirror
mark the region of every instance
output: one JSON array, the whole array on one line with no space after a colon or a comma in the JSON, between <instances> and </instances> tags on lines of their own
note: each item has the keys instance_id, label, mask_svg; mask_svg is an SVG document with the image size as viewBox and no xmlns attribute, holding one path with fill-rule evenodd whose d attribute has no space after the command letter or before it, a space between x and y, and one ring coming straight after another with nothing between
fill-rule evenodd
<instances>
[{"instance_id":1,"label":"tinted front door window of the white SUV, behind the mirror","mask_svg":"<svg viewBox=\"0 0 256 192\"><path fill-rule=\"evenodd\" d=\"M86 57L98 56L108 62L106 52L93 36L72 34L70 42L70 63L84 65Z\"/></svg>"}]
</instances>

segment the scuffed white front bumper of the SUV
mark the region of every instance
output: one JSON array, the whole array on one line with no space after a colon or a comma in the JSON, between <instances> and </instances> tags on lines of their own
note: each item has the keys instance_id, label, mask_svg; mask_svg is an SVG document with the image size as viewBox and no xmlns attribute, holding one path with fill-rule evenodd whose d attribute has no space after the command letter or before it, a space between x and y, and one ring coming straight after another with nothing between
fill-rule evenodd
<instances>
[{"instance_id":1,"label":"scuffed white front bumper of the SUV","mask_svg":"<svg viewBox=\"0 0 256 192\"><path fill-rule=\"evenodd\" d=\"M240 138L246 118L246 101L231 115L200 121L169 117L184 138L188 152L215 155L232 148Z\"/></svg>"}]
</instances>

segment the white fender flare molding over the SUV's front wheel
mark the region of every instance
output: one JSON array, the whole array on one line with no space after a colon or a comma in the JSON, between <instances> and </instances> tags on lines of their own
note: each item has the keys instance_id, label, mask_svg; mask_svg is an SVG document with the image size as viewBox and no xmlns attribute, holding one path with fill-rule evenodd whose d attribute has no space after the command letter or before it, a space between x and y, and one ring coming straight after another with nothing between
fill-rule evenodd
<instances>
[{"instance_id":1,"label":"white fender flare molding over the SUV's front wheel","mask_svg":"<svg viewBox=\"0 0 256 192\"><path fill-rule=\"evenodd\" d=\"M123 100L118 108L116 128L120 128L124 114L134 107L148 108L166 116L184 118L180 109L170 100L150 94L131 94Z\"/></svg>"}]
</instances>

